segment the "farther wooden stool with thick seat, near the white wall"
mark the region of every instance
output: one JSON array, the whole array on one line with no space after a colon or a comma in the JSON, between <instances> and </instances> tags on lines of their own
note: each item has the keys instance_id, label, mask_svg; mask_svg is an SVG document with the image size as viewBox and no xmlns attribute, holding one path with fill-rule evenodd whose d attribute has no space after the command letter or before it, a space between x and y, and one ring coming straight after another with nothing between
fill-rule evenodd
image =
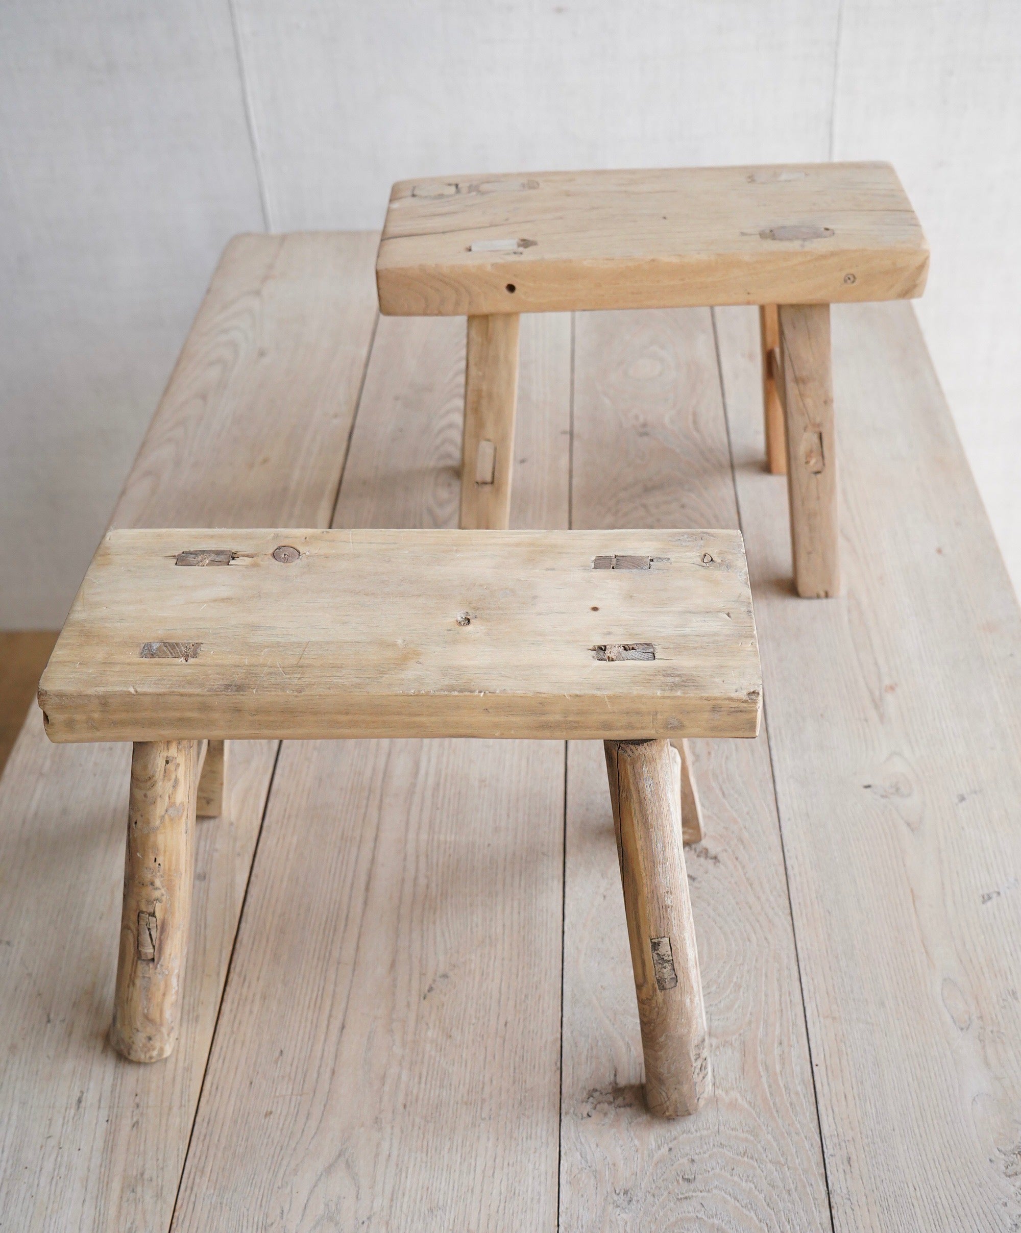
<instances>
[{"instance_id":1,"label":"farther wooden stool with thick seat, near the white wall","mask_svg":"<svg viewBox=\"0 0 1021 1233\"><path fill-rule=\"evenodd\" d=\"M820 163L406 180L376 281L383 313L469 318L472 526L507 525L519 313L760 305L766 449L787 471L795 584L834 596L830 305L920 296L927 269L889 164Z\"/></svg>"}]
</instances>

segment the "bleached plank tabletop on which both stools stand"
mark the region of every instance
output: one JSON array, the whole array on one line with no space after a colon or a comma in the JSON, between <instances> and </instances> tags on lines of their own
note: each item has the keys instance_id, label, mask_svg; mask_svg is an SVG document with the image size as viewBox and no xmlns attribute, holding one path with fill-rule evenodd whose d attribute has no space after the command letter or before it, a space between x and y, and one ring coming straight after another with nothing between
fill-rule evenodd
<instances>
[{"instance_id":1,"label":"bleached plank tabletop on which both stools stand","mask_svg":"<svg viewBox=\"0 0 1021 1233\"><path fill-rule=\"evenodd\" d=\"M371 255L228 250L118 524L456 523L464 323L377 322ZM825 602L790 586L753 312L522 340L512 525L747 544L766 725L695 743L710 1100L644 1111L588 743L237 746L184 1039L118 1060L128 753L33 713L0 783L0 1229L1021 1227L1021 615L910 306L834 311Z\"/></svg>"}]
</instances>

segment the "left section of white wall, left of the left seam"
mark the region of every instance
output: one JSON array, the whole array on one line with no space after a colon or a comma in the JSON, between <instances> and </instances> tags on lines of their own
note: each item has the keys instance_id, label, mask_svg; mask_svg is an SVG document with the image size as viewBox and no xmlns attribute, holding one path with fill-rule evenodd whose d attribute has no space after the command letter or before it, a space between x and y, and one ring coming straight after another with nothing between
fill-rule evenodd
<instances>
[{"instance_id":1,"label":"left section of white wall, left of the left seam","mask_svg":"<svg viewBox=\"0 0 1021 1233\"><path fill-rule=\"evenodd\" d=\"M226 2L0 5L0 626L59 626L221 248L261 229Z\"/></svg>"}]
</instances>

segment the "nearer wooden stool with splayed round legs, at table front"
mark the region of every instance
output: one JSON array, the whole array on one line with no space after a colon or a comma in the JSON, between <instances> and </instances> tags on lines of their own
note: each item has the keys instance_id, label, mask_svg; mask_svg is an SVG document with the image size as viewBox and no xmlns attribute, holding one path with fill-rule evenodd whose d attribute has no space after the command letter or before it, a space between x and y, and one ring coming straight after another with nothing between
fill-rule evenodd
<instances>
[{"instance_id":1,"label":"nearer wooden stool with splayed round legs, at table front","mask_svg":"<svg viewBox=\"0 0 1021 1233\"><path fill-rule=\"evenodd\" d=\"M51 740L134 742L113 1044L174 1047L207 740L601 739L649 1105L693 1112L670 739L755 736L761 690L739 531L111 531L39 705Z\"/></svg>"}]
</instances>

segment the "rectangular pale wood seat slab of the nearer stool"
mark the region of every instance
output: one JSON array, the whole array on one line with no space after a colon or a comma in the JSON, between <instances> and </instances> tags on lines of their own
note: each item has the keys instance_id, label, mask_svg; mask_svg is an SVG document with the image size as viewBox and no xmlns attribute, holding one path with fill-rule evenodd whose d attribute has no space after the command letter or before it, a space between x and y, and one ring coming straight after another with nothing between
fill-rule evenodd
<instances>
[{"instance_id":1,"label":"rectangular pale wood seat slab of the nearer stool","mask_svg":"<svg viewBox=\"0 0 1021 1233\"><path fill-rule=\"evenodd\" d=\"M739 531L115 530L54 741L755 736Z\"/></svg>"}]
</instances>

